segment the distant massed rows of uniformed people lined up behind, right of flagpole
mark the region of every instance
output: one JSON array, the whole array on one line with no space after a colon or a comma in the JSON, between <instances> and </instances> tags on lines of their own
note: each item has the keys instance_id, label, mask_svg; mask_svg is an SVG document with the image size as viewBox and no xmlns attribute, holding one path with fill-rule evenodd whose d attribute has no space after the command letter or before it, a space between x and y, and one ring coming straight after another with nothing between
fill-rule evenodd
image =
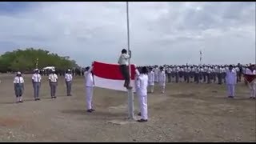
<instances>
[{"instance_id":1,"label":"distant massed rows of uniformed people lined up behind, right of flagpole","mask_svg":"<svg viewBox=\"0 0 256 144\"><path fill-rule=\"evenodd\" d=\"M195 82L195 83L218 83L221 85L226 82L226 70L229 69L228 65L182 65L182 66L146 66L148 70L154 73L154 82L158 82L158 75L161 69L166 74L167 82ZM237 82L241 82L242 74L245 72L246 67L238 64L234 66L237 73ZM160 78L161 79L161 78Z\"/></svg>"}]
</instances>

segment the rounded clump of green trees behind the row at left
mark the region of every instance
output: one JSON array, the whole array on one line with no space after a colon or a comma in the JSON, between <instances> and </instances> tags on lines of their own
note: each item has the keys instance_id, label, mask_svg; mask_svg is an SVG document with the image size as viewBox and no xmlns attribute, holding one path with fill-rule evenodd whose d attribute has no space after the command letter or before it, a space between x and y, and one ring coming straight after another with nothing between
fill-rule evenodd
<instances>
[{"instance_id":1,"label":"rounded clump of green trees behind the row at left","mask_svg":"<svg viewBox=\"0 0 256 144\"><path fill-rule=\"evenodd\" d=\"M38 59L38 69L46 66L55 66L58 70L66 70L78 67L74 60L69 57L61 57L58 54L51 54L48 50L28 48L26 50L14 50L0 55L0 72L31 72L36 68Z\"/></svg>"}]
</instances>

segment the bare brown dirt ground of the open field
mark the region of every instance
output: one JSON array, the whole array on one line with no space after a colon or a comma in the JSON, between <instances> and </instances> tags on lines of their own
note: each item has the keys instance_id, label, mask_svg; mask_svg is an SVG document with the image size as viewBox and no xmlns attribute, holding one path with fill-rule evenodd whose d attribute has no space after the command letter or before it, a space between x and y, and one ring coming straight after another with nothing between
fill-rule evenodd
<instances>
[{"instance_id":1,"label":"bare brown dirt ground of the open field","mask_svg":"<svg viewBox=\"0 0 256 144\"><path fill-rule=\"evenodd\" d=\"M127 94L95 88L94 109L86 112L84 79L66 96L59 78L57 99L50 99L43 78L41 101L34 101L31 75L24 76L23 103L14 103L14 75L1 74L0 142L256 142L256 101L243 83L236 98L226 98L217 84L168 83L166 94L155 86L148 95L149 122L127 122ZM134 94L138 112L138 98ZM111 123L113 120L125 124Z\"/></svg>"}]
</instances>

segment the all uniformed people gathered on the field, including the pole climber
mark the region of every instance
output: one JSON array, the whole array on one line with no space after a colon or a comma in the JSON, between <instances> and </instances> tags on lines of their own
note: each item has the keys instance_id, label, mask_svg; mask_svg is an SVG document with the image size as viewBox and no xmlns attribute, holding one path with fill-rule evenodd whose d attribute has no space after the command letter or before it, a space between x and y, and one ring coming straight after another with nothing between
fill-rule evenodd
<instances>
[{"instance_id":1,"label":"all uniformed people gathered on the field, including the pole climber","mask_svg":"<svg viewBox=\"0 0 256 144\"><path fill-rule=\"evenodd\" d=\"M128 70L128 60L131 58L131 52L127 54L127 50L122 50L122 54L118 59L120 65L120 72L125 79L124 85L127 90L132 89L130 85L130 74ZM86 106L87 112L93 112L92 98L94 91L94 74L93 64L87 66L84 71L79 71L77 74L75 70L66 70L66 72L59 73L55 70L43 71L36 69L32 75L32 83L34 88L34 100L40 100L40 86L42 81L41 75L48 75L50 96L56 98L56 89L58 86L58 76L65 76L66 82L66 94L72 96L71 87L74 75L84 75L85 87L86 87ZM41 73L41 74L40 74ZM81 74L82 73L82 74ZM234 98L235 85L242 81L243 74L256 75L256 69L254 65L241 65L238 63L234 65L182 65L182 66L138 66L135 70L135 87L136 94L138 95L140 102L140 113L142 116L138 122L147 122L147 93L154 93L154 85L161 86L162 94L165 93L166 83L168 82L195 82L197 84L202 83L218 83L222 85L226 84L228 98ZM256 95L256 81L250 82L250 98L255 99ZM14 78L14 91L18 102L22 101L22 94L24 91L24 79L22 73L18 72Z\"/></svg>"}]
</instances>

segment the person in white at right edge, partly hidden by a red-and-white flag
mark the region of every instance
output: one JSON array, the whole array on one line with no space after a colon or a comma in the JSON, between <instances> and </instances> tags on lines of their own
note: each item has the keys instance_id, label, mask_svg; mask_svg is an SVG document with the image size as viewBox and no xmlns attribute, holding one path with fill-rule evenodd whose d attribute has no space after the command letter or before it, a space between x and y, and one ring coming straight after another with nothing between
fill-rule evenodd
<instances>
[{"instance_id":1,"label":"person in white at right edge, partly hidden by a red-and-white flag","mask_svg":"<svg viewBox=\"0 0 256 144\"><path fill-rule=\"evenodd\" d=\"M256 70L254 70L253 66L250 66L249 68L246 69L246 74L256 75ZM256 95L256 79L254 79L253 82L248 83L248 85L250 87L250 98L254 98L255 99L255 95Z\"/></svg>"}]
</instances>

